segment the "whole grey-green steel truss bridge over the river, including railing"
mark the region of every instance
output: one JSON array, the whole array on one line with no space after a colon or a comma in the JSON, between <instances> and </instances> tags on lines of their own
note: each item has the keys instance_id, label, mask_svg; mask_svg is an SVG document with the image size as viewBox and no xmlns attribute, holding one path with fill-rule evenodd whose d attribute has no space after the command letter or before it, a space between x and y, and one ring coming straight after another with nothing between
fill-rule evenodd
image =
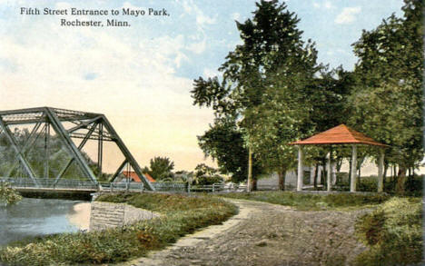
<instances>
[{"instance_id":1,"label":"whole grey-green steel truss bridge over the river, including railing","mask_svg":"<svg viewBox=\"0 0 425 266\"><path fill-rule=\"evenodd\" d=\"M65 129L64 123L71 123L73 126ZM13 125L34 125L24 143L16 140L10 127ZM40 130L41 128L41 130ZM54 131L57 138L63 143L65 150L70 155L70 159L63 165L63 168L56 176L49 176L49 138ZM134 160L132 153L127 149L122 139L115 132L114 127L102 113L86 113L57 109L51 107L39 107L20 110L0 111L0 134L5 137L13 148L16 160L10 167L5 177L0 177L0 181L10 182L16 188L27 189L66 189L66 190L103 190L111 189L118 175L123 172L125 167L133 168L133 171L139 176L143 185L142 189L154 191L151 182L144 176L139 164ZM44 176L37 176L33 170L27 153L32 149L35 141L40 135L44 136ZM76 145L73 139L80 139L81 142ZM89 166L87 159L82 153L82 149L88 140L97 141L97 169L99 176L102 175L102 164L104 159L104 142L114 142L124 155L124 162L120 164L114 175L108 183L98 182L96 176ZM72 163L75 163L87 181L64 179L64 173ZM12 172L18 167L22 167L28 178L11 178ZM137 186L136 184L127 184ZM139 184L140 186L141 184Z\"/></svg>"}]
</instances>

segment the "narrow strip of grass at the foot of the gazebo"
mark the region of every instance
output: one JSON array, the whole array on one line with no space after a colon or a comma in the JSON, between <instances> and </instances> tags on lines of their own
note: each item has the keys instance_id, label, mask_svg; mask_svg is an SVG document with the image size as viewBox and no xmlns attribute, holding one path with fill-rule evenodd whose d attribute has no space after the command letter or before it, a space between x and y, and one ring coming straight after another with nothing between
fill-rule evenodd
<instances>
[{"instance_id":1,"label":"narrow strip of grass at the foot of the gazebo","mask_svg":"<svg viewBox=\"0 0 425 266\"><path fill-rule=\"evenodd\" d=\"M332 210L347 207L366 207L379 204L389 199L384 194L351 194L351 193L303 193L303 192L251 192L227 193L220 195L226 198L269 202L292 206L301 211Z\"/></svg>"}]
</instances>

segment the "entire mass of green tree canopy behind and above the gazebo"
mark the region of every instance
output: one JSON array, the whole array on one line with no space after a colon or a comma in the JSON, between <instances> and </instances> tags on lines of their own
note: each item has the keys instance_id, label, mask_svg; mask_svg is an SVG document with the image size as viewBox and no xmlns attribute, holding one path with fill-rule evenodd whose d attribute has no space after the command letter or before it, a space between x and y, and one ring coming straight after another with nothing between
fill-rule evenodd
<instances>
[{"instance_id":1,"label":"entire mass of green tree canopy behind and above the gazebo","mask_svg":"<svg viewBox=\"0 0 425 266\"><path fill-rule=\"evenodd\" d=\"M390 145L386 165L400 166L402 183L423 156L423 3L404 2L403 17L391 15L353 44L359 61L352 72L317 64L314 43L302 40L300 20L284 3L257 3L252 18L236 22L242 44L221 75L194 81L193 104L215 114L198 137L205 155L242 179L250 147L257 173L284 175L295 163L287 143L348 123ZM324 162L328 152L311 149L307 161Z\"/></svg>"}]
</instances>

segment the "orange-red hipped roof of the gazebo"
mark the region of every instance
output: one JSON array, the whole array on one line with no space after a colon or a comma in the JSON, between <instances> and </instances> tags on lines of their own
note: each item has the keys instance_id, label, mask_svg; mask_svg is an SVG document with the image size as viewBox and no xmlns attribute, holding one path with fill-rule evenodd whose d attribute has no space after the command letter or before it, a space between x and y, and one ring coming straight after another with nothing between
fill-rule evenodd
<instances>
[{"instance_id":1,"label":"orange-red hipped roof of the gazebo","mask_svg":"<svg viewBox=\"0 0 425 266\"><path fill-rule=\"evenodd\" d=\"M374 141L372 138L351 129L345 124L332 127L331 129L315 134L308 139L290 143L290 145L309 144L368 144L375 146L388 146Z\"/></svg>"}]
</instances>

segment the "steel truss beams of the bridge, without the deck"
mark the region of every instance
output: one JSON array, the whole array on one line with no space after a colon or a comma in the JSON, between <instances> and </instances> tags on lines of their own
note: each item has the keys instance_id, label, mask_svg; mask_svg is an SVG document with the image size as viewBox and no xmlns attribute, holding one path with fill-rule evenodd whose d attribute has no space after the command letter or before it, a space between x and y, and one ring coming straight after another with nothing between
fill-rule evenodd
<instances>
[{"instance_id":1,"label":"steel truss beams of the bridge, without the deck","mask_svg":"<svg viewBox=\"0 0 425 266\"><path fill-rule=\"evenodd\" d=\"M73 123L73 127L65 129L64 123ZM15 139L14 133L10 130L10 125L17 124L35 124L25 143L19 144ZM42 127L43 126L43 127ZM114 175L110 179L111 182L118 177L124 170L124 167L131 166L133 171L142 180L145 189L153 191L153 185L144 176L139 164L134 160L132 153L127 149L123 140L115 132L114 127L102 113L86 113L72 110L64 110L52 107L39 107L20 110L0 111L0 134L4 133L11 147L14 149L17 160L8 171L8 176L15 170L18 162L23 166L23 169L28 177L30 177L35 185L37 185L37 177L33 168L25 156L25 153L31 149L31 145L39 137L40 127L41 132L44 132L44 177L49 176L49 137L51 130L56 133L61 140L67 152L71 156L68 162L64 165L61 171L54 177L54 182L58 182L64 175L64 172L76 163L84 175L98 184L97 177L89 166L89 163L84 158L82 149L88 140L97 141L97 168L99 174L102 174L102 164L104 157L104 142L114 142L124 155L124 162L120 164ZM83 133L84 132L84 133ZM82 139L78 146L72 139Z\"/></svg>"}]
</instances>

